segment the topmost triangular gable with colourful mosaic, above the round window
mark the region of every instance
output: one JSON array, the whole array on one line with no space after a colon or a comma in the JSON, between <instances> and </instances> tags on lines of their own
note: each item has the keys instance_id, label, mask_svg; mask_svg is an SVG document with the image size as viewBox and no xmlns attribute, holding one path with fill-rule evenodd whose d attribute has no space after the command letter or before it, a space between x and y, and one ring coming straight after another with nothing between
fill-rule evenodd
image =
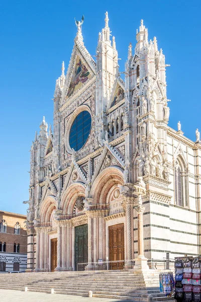
<instances>
[{"instance_id":1,"label":"topmost triangular gable with colourful mosaic, above the round window","mask_svg":"<svg viewBox=\"0 0 201 302\"><path fill-rule=\"evenodd\" d=\"M95 75L95 62L84 45L75 42L62 91L61 106Z\"/></svg>"}]
</instances>

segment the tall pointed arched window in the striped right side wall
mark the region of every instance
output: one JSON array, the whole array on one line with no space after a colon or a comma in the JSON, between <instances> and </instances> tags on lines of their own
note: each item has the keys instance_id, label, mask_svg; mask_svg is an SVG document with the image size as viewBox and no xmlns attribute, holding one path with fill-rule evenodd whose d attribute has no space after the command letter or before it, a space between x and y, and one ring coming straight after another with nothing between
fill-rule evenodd
<instances>
[{"instance_id":1,"label":"tall pointed arched window in the striped right side wall","mask_svg":"<svg viewBox=\"0 0 201 302\"><path fill-rule=\"evenodd\" d=\"M174 167L174 196L175 204L179 206L187 206L187 186L184 165L175 161Z\"/></svg>"}]
</instances>

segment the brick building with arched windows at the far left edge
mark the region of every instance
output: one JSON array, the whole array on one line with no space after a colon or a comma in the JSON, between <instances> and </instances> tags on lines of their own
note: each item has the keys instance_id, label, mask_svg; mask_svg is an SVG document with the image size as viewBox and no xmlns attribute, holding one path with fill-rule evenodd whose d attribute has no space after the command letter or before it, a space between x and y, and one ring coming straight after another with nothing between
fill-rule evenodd
<instances>
[{"instance_id":1,"label":"brick building with arched windows at the far left edge","mask_svg":"<svg viewBox=\"0 0 201 302\"><path fill-rule=\"evenodd\" d=\"M26 215L0 211L0 272L27 268Z\"/></svg>"}]
</instances>

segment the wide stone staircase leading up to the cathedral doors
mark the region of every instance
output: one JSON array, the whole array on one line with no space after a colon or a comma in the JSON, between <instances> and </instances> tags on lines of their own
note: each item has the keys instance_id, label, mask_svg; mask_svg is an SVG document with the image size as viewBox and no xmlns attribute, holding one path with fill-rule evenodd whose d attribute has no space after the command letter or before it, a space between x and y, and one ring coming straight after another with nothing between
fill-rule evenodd
<instances>
[{"instance_id":1,"label":"wide stone staircase leading up to the cathedral doors","mask_svg":"<svg viewBox=\"0 0 201 302\"><path fill-rule=\"evenodd\" d=\"M87 272L39 272L22 274L2 274L1 289L15 289L50 293L106 297L122 300L145 302L148 295L154 302L168 301L159 291L159 272L141 271L87 271Z\"/></svg>"}]
</instances>

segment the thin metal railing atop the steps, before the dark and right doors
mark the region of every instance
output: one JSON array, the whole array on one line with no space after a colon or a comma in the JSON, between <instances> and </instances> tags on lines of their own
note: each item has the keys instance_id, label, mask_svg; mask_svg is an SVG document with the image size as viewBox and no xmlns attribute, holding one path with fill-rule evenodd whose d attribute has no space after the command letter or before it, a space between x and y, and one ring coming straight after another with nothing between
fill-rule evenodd
<instances>
[{"instance_id":1,"label":"thin metal railing atop the steps, before the dark and right doors","mask_svg":"<svg viewBox=\"0 0 201 302\"><path fill-rule=\"evenodd\" d=\"M88 270L125 270L132 269L135 260L115 260L115 261L98 261L77 263L77 271Z\"/></svg>"}]
</instances>

